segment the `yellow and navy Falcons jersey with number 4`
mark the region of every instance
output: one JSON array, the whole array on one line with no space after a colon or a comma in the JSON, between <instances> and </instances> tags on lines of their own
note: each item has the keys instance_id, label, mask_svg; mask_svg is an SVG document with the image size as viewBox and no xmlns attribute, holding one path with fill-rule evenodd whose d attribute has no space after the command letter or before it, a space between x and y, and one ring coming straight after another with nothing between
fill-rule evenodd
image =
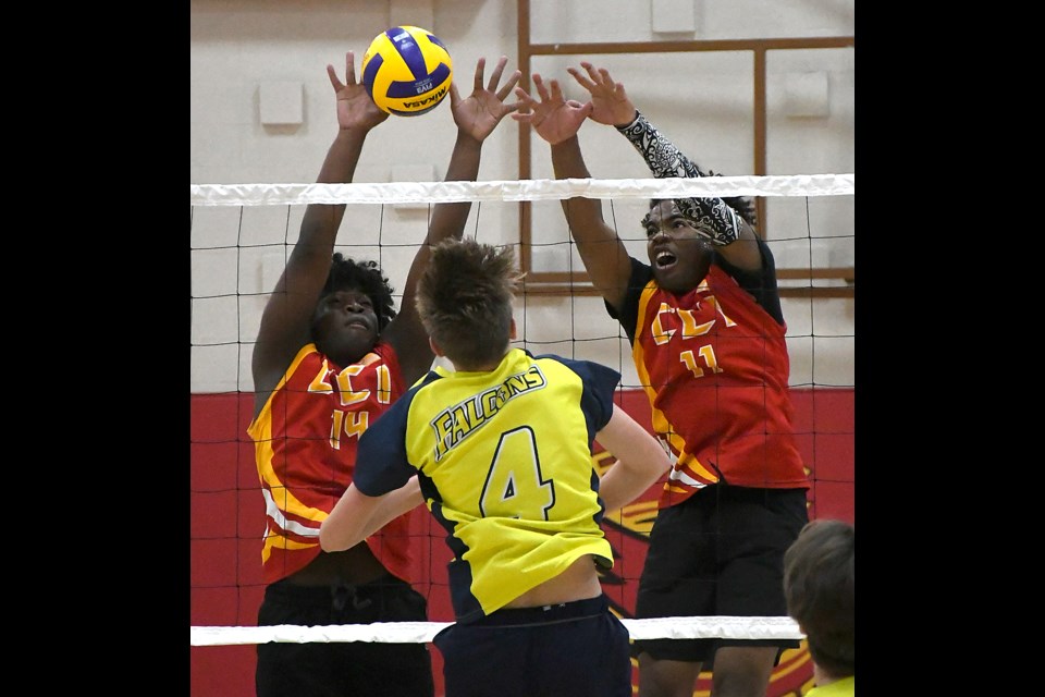
<instances>
[{"instance_id":1,"label":"yellow and navy Falcons jersey with number 4","mask_svg":"<svg viewBox=\"0 0 1045 697\"><path fill-rule=\"evenodd\" d=\"M591 454L619 380L597 363L512 348L492 371L434 368L359 439L362 493L419 476L454 552L457 622L494 612L585 554L613 566Z\"/></svg>"}]
</instances>

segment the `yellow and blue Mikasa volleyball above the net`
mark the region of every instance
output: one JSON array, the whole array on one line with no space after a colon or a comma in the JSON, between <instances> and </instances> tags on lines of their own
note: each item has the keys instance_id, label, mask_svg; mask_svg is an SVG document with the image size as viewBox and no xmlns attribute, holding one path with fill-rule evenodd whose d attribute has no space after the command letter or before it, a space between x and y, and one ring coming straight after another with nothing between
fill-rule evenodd
<instances>
[{"instance_id":1,"label":"yellow and blue Mikasa volleyball above the net","mask_svg":"<svg viewBox=\"0 0 1045 697\"><path fill-rule=\"evenodd\" d=\"M431 111L450 93L453 63L428 29L393 26L373 37L362 56L362 84L373 103L398 117Z\"/></svg>"}]
</instances>

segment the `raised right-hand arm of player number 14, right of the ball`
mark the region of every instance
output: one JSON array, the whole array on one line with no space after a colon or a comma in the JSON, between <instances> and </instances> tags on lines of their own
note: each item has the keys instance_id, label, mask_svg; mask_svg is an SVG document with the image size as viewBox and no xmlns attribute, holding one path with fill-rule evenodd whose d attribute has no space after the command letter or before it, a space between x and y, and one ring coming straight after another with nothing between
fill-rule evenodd
<instances>
[{"instance_id":1,"label":"raised right-hand arm of player number 14, right of the ball","mask_svg":"<svg viewBox=\"0 0 1045 697\"><path fill-rule=\"evenodd\" d=\"M457 124L457 139L454 143L444 181L475 181L479 175L479 159L483 142L506 114L518 109L518 103L505 105L504 99L512 94L521 73L515 71L504 86L497 87L507 61L507 57L501 57L484 86L485 59L480 58L476 64L472 93L467 98L462 98L456 83L451 83L450 108ZM425 332L414 303L417 282L428 266L429 248L447 237L460 239L470 210L471 201L435 205L428 236L418 248L406 277L399 314L383 332L383 337L395 346L399 355L399 365L407 384L413 384L425 375L435 358L428 345L428 334Z\"/></svg>"}]
</instances>

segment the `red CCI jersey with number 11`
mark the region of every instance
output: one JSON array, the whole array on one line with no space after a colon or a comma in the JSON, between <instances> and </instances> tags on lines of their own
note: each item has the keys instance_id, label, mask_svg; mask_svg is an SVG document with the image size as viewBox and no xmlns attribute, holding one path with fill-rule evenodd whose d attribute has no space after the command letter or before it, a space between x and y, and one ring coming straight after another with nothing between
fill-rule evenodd
<instances>
[{"instance_id":1,"label":"red CCI jersey with number 11","mask_svg":"<svg viewBox=\"0 0 1045 697\"><path fill-rule=\"evenodd\" d=\"M653 431L674 461L660 508L720 480L808 488L791 425L786 325L718 266L683 295L661 290L648 266L632 260L632 267L639 276L622 323L632 338ZM625 317L635 325L627 327Z\"/></svg>"}]
</instances>

